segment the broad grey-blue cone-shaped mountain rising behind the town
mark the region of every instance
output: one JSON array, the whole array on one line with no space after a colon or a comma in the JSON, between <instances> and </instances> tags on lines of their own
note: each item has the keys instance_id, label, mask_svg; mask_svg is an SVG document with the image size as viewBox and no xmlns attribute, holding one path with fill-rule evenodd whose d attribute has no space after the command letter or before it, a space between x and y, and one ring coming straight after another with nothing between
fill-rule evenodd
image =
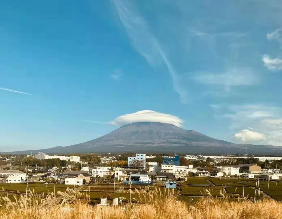
<instances>
[{"instance_id":1,"label":"broad grey-blue cone-shaped mountain rising behind the town","mask_svg":"<svg viewBox=\"0 0 282 219\"><path fill-rule=\"evenodd\" d=\"M66 147L32 150L33 153L86 152L176 152L176 153L269 153L282 154L282 147L241 145L208 137L195 130L158 122L137 122L124 125L100 138ZM15 151L12 153L30 153Z\"/></svg>"}]
</instances>

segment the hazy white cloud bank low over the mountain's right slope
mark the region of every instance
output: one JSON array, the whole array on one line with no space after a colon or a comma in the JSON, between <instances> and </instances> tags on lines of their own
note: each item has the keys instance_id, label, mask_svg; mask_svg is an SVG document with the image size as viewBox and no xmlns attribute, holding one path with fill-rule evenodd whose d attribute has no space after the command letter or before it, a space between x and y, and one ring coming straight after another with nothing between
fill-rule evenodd
<instances>
[{"instance_id":1,"label":"hazy white cloud bank low over the mountain's right slope","mask_svg":"<svg viewBox=\"0 0 282 219\"><path fill-rule=\"evenodd\" d=\"M236 133L235 140L242 143L282 146L281 107L270 105L212 105L211 107L215 110L217 118L230 120L229 129ZM252 127L256 131L245 127Z\"/></svg>"}]
</instances>

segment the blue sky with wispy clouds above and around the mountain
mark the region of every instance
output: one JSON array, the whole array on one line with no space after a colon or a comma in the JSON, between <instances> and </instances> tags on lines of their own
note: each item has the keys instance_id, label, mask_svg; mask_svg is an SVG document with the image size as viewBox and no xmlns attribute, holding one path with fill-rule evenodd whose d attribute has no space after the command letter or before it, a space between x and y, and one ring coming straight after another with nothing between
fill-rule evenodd
<instances>
[{"instance_id":1,"label":"blue sky with wispy clouds above and around the mountain","mask_svg":"<svg viewBox=\"0 0 282 219\"><path fill-rule=\"evenodd\" d=\"M282 146L279 1L12 1L0 11L0 151L91 140L140 110Z\"/></svg>"}]
</instances>

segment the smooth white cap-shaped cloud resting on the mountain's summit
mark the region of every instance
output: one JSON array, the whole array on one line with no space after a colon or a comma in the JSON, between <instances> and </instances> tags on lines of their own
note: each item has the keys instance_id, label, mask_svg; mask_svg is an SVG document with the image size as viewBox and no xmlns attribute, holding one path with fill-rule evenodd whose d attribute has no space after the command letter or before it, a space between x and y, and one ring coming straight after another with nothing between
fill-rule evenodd
<instances>
[{"instance_id":1,"label":"smooth white cap-shaped cloud resting on the mountain's summit","mask_svg":"<svg viewBox=\"0 0 282 219\"><path fill-rule=\"evenodd\" d=\"M152 110L141 110L138 112L119 116L116 119L114 119L111 123L113 125L122 126L135 122L161 122L161 123L168 123L181 127L183 120L181 120L177 116L173 116L170 114L155 112Z\"/></svg>"}]
</instances>

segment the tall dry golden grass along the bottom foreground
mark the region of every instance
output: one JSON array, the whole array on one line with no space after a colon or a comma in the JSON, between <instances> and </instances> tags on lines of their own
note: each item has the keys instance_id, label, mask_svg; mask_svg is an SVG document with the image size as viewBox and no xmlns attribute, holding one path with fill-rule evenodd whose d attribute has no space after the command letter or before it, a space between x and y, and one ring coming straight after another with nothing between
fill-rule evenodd
<instances>
[{"instance_id":1,"label":"tall dry golden grass along the bottom foreground","mask_svg":"<svg viewBox=\"0 0 282 219\"><path fill-rule=\"evenodd\" d=\"M2 197L0 218L195 218L195 219L237 219L237 218L282 218L282 203L274 200L252 203L248 200L228 202L222 198L203 198L194 205L177 202L178 197L166 190L135 191L140 204L120 206L91 206L89 196L67 189L66 192L37 196L30 193L21 195L16 202Z\"/></svg>"}]
</instances>

